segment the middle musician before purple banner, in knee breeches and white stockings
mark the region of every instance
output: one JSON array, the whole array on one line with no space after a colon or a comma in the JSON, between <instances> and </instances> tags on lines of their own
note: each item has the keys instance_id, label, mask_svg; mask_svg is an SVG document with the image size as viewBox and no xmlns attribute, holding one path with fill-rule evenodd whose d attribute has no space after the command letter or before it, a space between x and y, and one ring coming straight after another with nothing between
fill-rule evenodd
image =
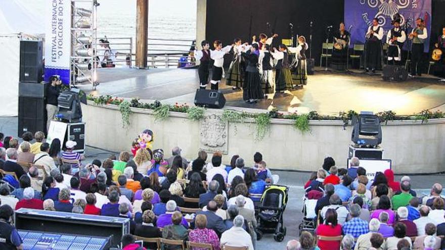
<instances>
[{"instance_id":1,"label":"middle musician before purple banner, in knee breeches and white stockings","mask_svg":"<svg viewBox=\"0 0 445 250\"><path fill-rule=\"evenodd\" d=\"M386 35L386 43L389 44L388 64L400 65L400 61L402 61L402 47L407 39L407 35L400 28L400 19L393 20L392 25L394 27Z\"/></svg>"}]
</instances>

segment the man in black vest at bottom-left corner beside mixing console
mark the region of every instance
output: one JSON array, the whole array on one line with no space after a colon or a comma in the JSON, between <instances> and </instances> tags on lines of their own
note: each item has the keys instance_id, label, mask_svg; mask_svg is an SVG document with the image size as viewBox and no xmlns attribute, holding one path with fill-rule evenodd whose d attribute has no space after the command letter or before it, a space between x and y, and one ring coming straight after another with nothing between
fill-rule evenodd
<instances>
[{"instance_id":1,"label":"man in black vest at bottom-left corner beside mixing console","mask_svg":"<svg viewBox=\"0 0 445 250\"><path fill-rule=\"evenodd\" d=\"M0 249L22 250L23 241L17 229L11 224L14 210L8 206L0 206Z\"/></svg>"}]
</instances>

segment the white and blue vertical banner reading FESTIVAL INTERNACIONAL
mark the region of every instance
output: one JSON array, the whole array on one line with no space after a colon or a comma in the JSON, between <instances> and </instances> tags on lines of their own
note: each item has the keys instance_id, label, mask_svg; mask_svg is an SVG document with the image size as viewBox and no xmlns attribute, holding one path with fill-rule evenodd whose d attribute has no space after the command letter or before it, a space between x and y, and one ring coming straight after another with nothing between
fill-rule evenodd
<instances>
[{"instance_id":1,"label":"white and blue vertical banner reading FESTIVAL INTERNACIONAL","mask_svg":"<svg viewBox=\"0 0 445 250\"><path fill-rule=\"evenodd\" d=\"M71 0L45 1L45 81L60 75L69 84L71 54Z\"/></svg>"}]
</instances>

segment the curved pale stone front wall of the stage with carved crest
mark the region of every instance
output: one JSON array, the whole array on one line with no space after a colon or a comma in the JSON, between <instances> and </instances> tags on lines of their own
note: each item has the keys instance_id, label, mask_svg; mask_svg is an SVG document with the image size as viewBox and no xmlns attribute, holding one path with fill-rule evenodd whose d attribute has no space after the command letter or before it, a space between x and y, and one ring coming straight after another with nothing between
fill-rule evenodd
<instances>
[{"instance_id":1,"label":"curved pale stone front wall of the stage with carved crest","mask_svg":"<svg viewBox=\"0 0 445 250\"><path fill-rule=\"evenodd\" d=\"M169 118L157 122L151 110L132 108L130 126L122 128L117 106L82 105L82 111L87 145L129 151L131 141L149 128L154 132L153 148L164 149L167 157L176 145L187 159L196 158L200 148L220 148L227 152L223 155L224 163L229 164L232 155L238 154L246 160L246 166L251 166L253 154L259 151L268 167L284 170L315 171L327 156L332 156L338 167L346 166L352 129L343 128L342 121L310 121L311 131L302 134L292 126L292 120L272 119L270 133L256 141L253 120L222 127L213 121L204 126L203 120L190 121L187 114L170 112ZM206 116L221 113L222 110L207 110ZM392 160L396 173L445 171L445 119L425 124L388 122L382 131L383 158Z\"/></svg>"}]
</instances>

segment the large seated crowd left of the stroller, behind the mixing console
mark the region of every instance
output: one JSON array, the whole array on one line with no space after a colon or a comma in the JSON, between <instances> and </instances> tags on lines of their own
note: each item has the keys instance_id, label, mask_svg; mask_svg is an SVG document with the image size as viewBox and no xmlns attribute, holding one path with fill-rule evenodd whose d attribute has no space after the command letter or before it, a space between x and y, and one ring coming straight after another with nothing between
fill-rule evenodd
<instances>
[{"instance_id":1,"label":"large seated crowd left of the stroller, behind the mixing console","mask_svg":"<svg viewBox=\"0 0 445 250\"><path fill-rule=\"evenodd\" d=\"M130 219L131 233L122 239L129 245L124 249L136 249L131 245L138 236L208 243L213 249L254 249L254 208L273 182L258 152L251 168L238 155L223 165L219 152L207 161L200 151L189 162L179 147L166 160L162 149L137 149L85 164L74 141L67 141L62 151L60 140L44 142L42 132L27 132L23 139L18 144L8 138L3 143L8 148L0 147L0 169L18 178L0 186L0 212L5 211L0 219L9 221L21 208L124 217ZM9 246L20 248L16 230L11 237Z\"/></svg>"}]
</instances>

